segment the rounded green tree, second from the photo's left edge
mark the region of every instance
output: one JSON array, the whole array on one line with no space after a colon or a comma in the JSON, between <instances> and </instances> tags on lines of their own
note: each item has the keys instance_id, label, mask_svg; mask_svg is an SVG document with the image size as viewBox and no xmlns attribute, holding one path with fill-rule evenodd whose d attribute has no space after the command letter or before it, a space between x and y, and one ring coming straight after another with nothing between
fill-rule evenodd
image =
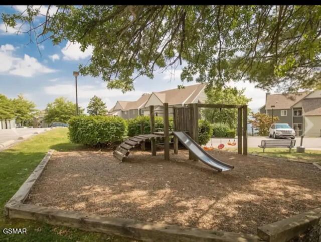
<instances>
[{"instance_id":1,"label":"rounded green tree, second from the photo's left edge","mask_svg":"<svg viewBox=\"0 0 321 242\"><path fill-rule=\"evenodd\" d=\"M36 112L36 104L26 99L22 94L17 98L12 99L16 122L20 122L23 126L26 121L31 121Z\"/></svg>"}]
</instances>

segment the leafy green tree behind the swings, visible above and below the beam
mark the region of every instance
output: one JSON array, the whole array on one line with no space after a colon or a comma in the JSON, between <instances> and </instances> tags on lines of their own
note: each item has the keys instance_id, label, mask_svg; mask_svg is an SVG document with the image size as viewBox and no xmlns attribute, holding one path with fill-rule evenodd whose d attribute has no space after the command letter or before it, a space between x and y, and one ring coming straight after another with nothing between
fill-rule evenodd
<instances>
[{"instance_id":1,"label":"leafy green tree behind the swings, visible above and below the beam","mask_svg":"<svg viewBox=\"0 0 321 242\"><path fill-rule=\"evenodd\" d=\"M244 91L236 87L208 88L206 103L247 105L251 98L247 98ZM203 114L211 123L226 123L233 129L237 126L237 108L204 108Z\"/></svg>"}]
</instances>

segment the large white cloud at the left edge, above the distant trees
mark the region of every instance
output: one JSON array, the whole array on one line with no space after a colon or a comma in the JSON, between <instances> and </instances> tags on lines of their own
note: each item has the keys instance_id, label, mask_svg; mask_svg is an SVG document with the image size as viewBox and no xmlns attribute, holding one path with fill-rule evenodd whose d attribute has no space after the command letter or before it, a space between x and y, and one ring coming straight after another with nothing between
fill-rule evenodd
<instances>
[{"instance_id":1,"label":"large white cloud at the left edge, above the distant trees","mask_svg":"<svg viewBox=\"0 0 321 242\"><path fill-rule=\"evenodd\" d=\"M34 76L36 73L51 73L56 70L41 64L36 58L25 54L24 57L13 55L15 47L11 44L0 47L0 73L20 75L25 77Z\"/></svg>"}]
</instances>

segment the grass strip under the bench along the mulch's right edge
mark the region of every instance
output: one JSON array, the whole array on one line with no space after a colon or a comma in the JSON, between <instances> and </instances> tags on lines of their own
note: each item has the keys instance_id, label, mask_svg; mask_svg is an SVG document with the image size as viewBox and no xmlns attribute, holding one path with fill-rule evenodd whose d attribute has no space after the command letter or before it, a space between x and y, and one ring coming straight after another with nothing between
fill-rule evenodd
<instances>
[{"instance_id":1,"label":"grass strip under the bench along the mulch's right edge","mask_svg":"<svg viewBox=\"0 0 321 242\"><path fill-rule=\"evenodd\" d=\"M229 150L237 151L236 148L229 148ZM304 153L297 153L296 149L293 148L290 153L288 148L266 148L265 152L263 153L263 149L257 147L257 148L248 148L248 152L259 154L259 155L271 156L271 157L305 161L309 163L318 162L318 161L321 162L321 150L306 149Z\"/></svg>"}]
</instances>

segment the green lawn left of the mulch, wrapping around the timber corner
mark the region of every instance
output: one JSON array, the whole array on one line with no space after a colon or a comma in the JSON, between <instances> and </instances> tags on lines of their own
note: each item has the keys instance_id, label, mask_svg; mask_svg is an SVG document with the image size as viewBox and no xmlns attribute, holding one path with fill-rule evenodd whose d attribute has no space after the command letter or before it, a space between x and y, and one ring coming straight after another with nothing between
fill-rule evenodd
<instances>
[{"instance_id":1,"label":"green lawn left of the mulch, wrapping around the timber corner","mask_svg":"<svg viewBox=\"0 0 321 242\"><path fill-rule=\"evenodd\" d=\"M6 202L16 193L50 148L59 151L83 148L69 142L67 128L55 128L0 152L0 241L132 241L102 233L85 232L64 226L9 219ZM4 234L3 228L27 228L27 234Z\"/></svg>"}]
</instances>

